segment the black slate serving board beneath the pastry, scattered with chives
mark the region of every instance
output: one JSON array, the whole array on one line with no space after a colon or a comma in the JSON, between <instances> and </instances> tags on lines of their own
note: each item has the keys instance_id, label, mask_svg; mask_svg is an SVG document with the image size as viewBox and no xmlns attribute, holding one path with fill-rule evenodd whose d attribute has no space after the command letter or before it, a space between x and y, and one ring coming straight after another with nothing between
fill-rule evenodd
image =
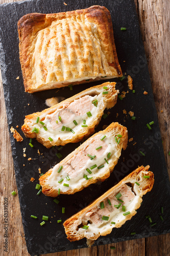
<instances>
[{"instance_id":1,"label":"black slate serving board beneath the pastry, scattered with chives","mask_svg":"<svg viewBox=\"0 0 170 256\"><path fill-rule=\"evenodd\" d=\"M29 139L24 138L23 142L16 142L10 133L22 222L28 251L31 255L87 247L86 239L70 243L66 239L62 224L57 223L57 220L62 218L62 222L64 222L142 164L149 164L150 170L155 174L152 191L143 197L142 205L131 221L125 223L122 228L113 229L108 236L100 237L94 245L150 237L167 233L170 230L170 205L167 203L169 202L170 185L134 2L133 0L79 0L75 2L67 0L66 3L68 5L64 6L63 1L40 0L0 6L0 62L9 128L19 125L17 130L20 132L25 115L46 108L44 103L46 98L54 96L67 98L90 86L102 83L101 81L75 86L73 91L70 91L69 88L61 88L57 93L57 90L34 94L25 93L18 51L17 21L19 18L31 12L56 13L98 4L105 6L111 12L119 63L123 72L132 76L136 93L133 94L129 90L126 98L122 101L118 99L116 106L110 110L111 114L105 120L101 120L96 132L102 130L104 124L118 121L127 126L129 138L133 137L133 141L129 142L127 150L122 153L114 172L105 182L90 185L75 195L60 195L60 203L57 205L50 197L45 197L43 194L37 196L36 183L30 182L30 178L34 177L38 183L38 167L41 168L42 173L45 173L59 161L55 155L58 151L57 147L47 149L33 140L34 148L31 148L28 145ZM126 27L127 31L120 31L120 27ZM19 76L19 80L16 80L17 76ZM117 89L120 92L128 90L127 78L123 81L112 80L117 81ZM143 95L144 90L148 92L148 95ZM136 120L133 121L128 114L127 116L123 114L124 109L127 113L133 111ZM117 118L116 113L118 113ZM146 123L152 120L154 120L154 125L149 131ZM135 142L136 144L133 145ZM65 145L61 152L63 157L66 157L77 146L79 143ZM27 148L27 158L23 157L22 148L24 147ZM38 155L38 149L43 153L44 158ZM141 156L139 151L142 151L145 157ZM27 161L29 157L35 160ZM65 214L61 213L62 206L66 209ZM163 222L159 218L161 206L164 207ZM38 216L38 219L31 219L31 214ZM50 221L46 222L44 226L39 225L42 215L50 217ZM151 227L149 221L145 219L145 215L150 215L157 225ZM134 236L130 234L132 231L136 232Z\"/></svg>"}]
</instances>

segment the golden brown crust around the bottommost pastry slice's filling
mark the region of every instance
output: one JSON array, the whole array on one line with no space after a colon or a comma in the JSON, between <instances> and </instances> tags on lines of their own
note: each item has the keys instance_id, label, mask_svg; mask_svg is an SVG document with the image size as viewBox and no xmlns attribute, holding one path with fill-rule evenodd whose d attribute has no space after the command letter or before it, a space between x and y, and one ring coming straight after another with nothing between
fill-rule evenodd
<instances>
[{"instance_id":1,"label":"golden brown crust around the bottommost pastry slice's filling","mask_svg":"<svg viewBox=\"0 0 170 256\"><path fill-rule=\"evenodd\" d=\"M104 195L102 195L100 198L96 199L93 203L91 203L90 205L88 205L87 207L85 207L84 209L82 209L81 211L79 211L77 214L75 214L74 216L70 217L69 219L67 219L63 225L65 228L65 232L67 234L67 239L69 241L76 241L76 240L80 240L84 237L86 237L87 239L91 239L91 240L96 240L98 239L101 235L102 236L106 236L107 234L109 234L112 231L112 228L108 228L108 230L106 230L104 233L98 233L98 234L91 234L91 236L87 236L85 232L78 232L78 230L76 231L76 225L75 223L79 223L81 222L81 218L87 213L89 212L92 208L94 208L96 205L100 204L100 202L104 201L105 198L107 198L109 195L111 195L117 188L119 188L121 185L125 184L125 183L129 183L131 182L132 184L134 184L136 181L140 180L140 188L139 189L139 200L138 203L135 206L135 209L132 210L131 214L127 215L126 219L124 219L123 221L120 221L119 223L116 223L114 227L119 228L121 227L127 220L130 220L132 218L132 216L134 216L136 214L136 210L140 207L140 203L142 202L142 196L145 195L147 192L151 191L151 189L153 188L154 185L154 174L152 172L149 172L149 165L147 165L146 167L140 166L137 169L135 169L131 174L129 174L128 176L126 176L122 181L120 181L118 184L116 184L115 186L113 186L112 188L110 188ZM149 179L144 179L143 175L149 175L150 178ZM110 226L110 225L109 225ZM72 229L74 227L74 230Z\"/></svg>"}]
</instances>

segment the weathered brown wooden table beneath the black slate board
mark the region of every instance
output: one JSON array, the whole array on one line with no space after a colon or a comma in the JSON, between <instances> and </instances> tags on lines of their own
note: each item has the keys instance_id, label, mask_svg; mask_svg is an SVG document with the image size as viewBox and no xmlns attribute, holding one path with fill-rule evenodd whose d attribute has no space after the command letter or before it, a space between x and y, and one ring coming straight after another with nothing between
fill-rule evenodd
<instances>
[{"instance_id":1,"label":"weathered brown wooden table beneath the black slate board","mask_svg":"<svg viewBox=\"0 0 170 256\"><path fill-rule=\"evenodd\" d=\"M17 1L17 0L16 0ZM0 0L0 4L16 2L15 0ZM65 1L66 2L66 1ZM96 1L97 4L97 1ZM155 97L159 125L163 140L164 155L170 175L170 150L169 145L169 120L170 113L170 82L169 82L169 0L135 0L136 10L143 38L145 53L148 59L149 71L152 81L152 88ZM11 191L15 190L15 173L11 155L11 144L7 127L6 108L3 94L3 87L0 75L0 174L1 174L1 218L3 216L4 198L8 198L9 214L9 247L4 252L4 231L0 227L1 248L0 255L28 256L25 235L23 232L18 197L13 197ZM115 246L115 250L110 250ZM132 241L119 242L111 245L94 246L92 248L78 249L74 251L46 254L47 256L72 256L72 255L170 255L170 234L157 237L143 238Z\"/></svg>"}]
</instances>

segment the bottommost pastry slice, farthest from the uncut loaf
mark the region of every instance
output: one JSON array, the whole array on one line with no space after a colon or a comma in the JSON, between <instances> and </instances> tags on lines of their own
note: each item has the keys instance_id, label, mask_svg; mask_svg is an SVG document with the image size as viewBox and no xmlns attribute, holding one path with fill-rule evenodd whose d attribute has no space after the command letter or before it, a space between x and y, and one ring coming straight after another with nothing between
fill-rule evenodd
<instances>
[{"instance_id":1,"label":"bottommost pastry slice, farthest from the uncut loaf","mask_svg":"<svg viewBox=\"0 0 170 256\"><path fill-rule=\"evenodd\" d=\"M140 166L103 196L67 219L63 225L69 241L96 240L121 227L137 212L142 196L151 191L154 174Z\"/></svg>"}]
</instances>

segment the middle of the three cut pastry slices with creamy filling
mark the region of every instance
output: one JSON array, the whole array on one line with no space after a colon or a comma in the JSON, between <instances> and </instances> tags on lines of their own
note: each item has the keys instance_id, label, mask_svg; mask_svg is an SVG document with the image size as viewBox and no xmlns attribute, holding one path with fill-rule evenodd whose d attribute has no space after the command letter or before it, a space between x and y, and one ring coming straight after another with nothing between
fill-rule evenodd
<instances>
[{"instance_id":1,"label":"middle of the three cut pastry slices with creamy filling","mask_svg":"<svg viewBox=\"0 0 170 256\"><path fill-rule=\"evenodd\" d=\"M94 134L71 154L39 178L42 193L57 197L74 194L110 176L128 142L126 127L111 123Z\"/></svg>"}]
</instances>

